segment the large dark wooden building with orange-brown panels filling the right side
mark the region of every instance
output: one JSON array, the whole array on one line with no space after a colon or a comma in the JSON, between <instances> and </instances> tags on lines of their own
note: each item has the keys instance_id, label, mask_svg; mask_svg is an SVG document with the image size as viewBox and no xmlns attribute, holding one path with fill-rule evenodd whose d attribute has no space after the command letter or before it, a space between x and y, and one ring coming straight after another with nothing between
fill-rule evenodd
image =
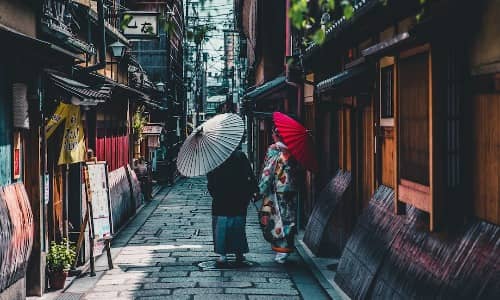
<instances>
[{"instance_id":1,"label":"large dark wooden building with orange-brown panels filling the right side","mask_svg":"<svg viewBox=\"0 0 500 300\"><path fill-rule=\"evenodd\" d=\"M242 27L256 28L247 37L267 22L255 2L241 5ZM255 24L245 21L253 5ZM301 195L305 242L339 257L335 281L348 296L498 294L499 5L353 1L350 19L333 15L326 41L295 56L297 108L263 108L253 96L272 95L266 85L279 80L248 92L249 109L297 112L314 133L322 163ZM314 3L311 12L324 13ZM266 51L257 36L253 55ZM253 135L258 153L265 128Z\"/></svg>"}]
</instances>

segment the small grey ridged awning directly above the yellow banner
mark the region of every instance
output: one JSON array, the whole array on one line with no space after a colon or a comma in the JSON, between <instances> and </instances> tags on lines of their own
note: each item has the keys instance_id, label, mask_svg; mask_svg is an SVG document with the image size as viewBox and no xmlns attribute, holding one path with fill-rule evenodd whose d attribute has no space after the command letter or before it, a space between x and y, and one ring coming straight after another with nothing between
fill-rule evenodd
<instances>
[{"instance_id":1,"label":"small grey ridged awning directly above the yellow banner","mask_svg":"<svg viewBox=\"0 0 500 300\"><path fill-rule=\"evenodd\" d=\"M54 86L79 98L80 102L78 105L96 106L99 103L106 102L111 97L111 89L107 85L91 88L88 85L60 74L52 72L48 72L48 74Z\"/></svg>"}]
</instances>

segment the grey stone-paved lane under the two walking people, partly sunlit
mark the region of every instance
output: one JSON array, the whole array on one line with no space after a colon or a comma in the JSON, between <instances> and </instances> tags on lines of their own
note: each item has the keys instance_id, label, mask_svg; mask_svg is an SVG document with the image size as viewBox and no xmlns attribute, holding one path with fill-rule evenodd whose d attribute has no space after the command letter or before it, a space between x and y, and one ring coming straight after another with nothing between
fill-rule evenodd
<instances>
[{"instance_id":1,"label":"grey stone-paved lane under the two walking people, partly sunlit","mask_svg":"<svg viewBox=\"0 0 500 300\"><path fill-rule=\"evenodd\" d=\"M157 197L162 197L161 202L123 245L115 268L100 274L83 299L327 298L298 256L294 254L285 266L273 261L253 207L247 218L250 253L246 257L256 265L203 270L198 264L216 257L205 179L181 180L168 195L160 192ZM70 296L71 289L67 293Z\"/></svg>"}]
</instances>

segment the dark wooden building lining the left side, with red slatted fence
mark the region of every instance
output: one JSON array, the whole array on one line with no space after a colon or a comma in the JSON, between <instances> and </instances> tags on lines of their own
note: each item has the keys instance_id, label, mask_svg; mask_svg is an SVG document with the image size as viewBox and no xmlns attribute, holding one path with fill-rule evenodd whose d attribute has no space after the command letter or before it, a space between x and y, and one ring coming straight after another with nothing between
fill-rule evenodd
<instances>
[{"instance_id":1,"label":"dark wooden building lining the left side, with red slatted fence","mask_svg":"<svg viewBox=\"0 0 500 300\"><path fill-rule=\"evenodd\" d=\"M2 272L2 297L22 298L25 290L42 295L50 241L75 240L83 220L82 163L59 164L64 125L50 137L45 133L61 103L79 108L85 148L108 163L113 229L141 204L127 177L133 172L128 166L134 143L131 116L139 104L157 104L155 95L129 84L129 65L135 63L124 52L130 44L119 32L120 4L0 1L5 44L0 56L0 215L7 217L1 228L12 229L2 229L0 264L2 270L16 264L9 269L14 273ZM122 51L114 53L112 44ZM12 239L23 243L7 251ZM88 258L85 253L80 257Z\"/></svg>"}]
</instances>

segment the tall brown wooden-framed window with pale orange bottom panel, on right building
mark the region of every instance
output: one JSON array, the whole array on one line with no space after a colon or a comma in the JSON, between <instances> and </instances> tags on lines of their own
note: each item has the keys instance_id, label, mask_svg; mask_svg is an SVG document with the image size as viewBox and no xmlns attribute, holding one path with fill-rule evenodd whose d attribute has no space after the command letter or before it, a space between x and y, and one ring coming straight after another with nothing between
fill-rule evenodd
<instances>
[{"instance_id":1,"label":"tall brown wooden-framed window with pale orange bottom panel, on right building","mask_svg":"<svg viewBox=\"0 0 500 300\"><path fill-rule=\"evenodd\" d=\"M402 52L397 60L396 211L399 202L429 213L434 230L432 177L432 75L429 45Z\"/></svg>"}]
</instances>

